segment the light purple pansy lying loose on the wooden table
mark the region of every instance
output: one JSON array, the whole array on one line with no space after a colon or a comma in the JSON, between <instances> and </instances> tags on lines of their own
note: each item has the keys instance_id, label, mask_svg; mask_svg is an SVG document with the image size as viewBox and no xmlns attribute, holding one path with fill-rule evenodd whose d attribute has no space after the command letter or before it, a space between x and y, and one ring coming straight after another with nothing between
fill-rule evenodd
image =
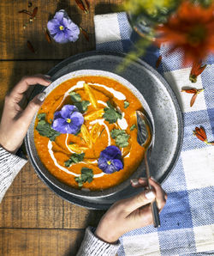
<instances>
[{"instance_id":1,"label":"light purple pansy lying loose on the wooden table","mask_svg":"<svg viewBox=\"0 0 214 256\"><path fill-rule=\"evenodd\" d=\"M79 38L80 28L71 21L64 9L56 12L54 18L48 21L47 27L57 43L75 42Z\"/></svg>"}]
</instances>

